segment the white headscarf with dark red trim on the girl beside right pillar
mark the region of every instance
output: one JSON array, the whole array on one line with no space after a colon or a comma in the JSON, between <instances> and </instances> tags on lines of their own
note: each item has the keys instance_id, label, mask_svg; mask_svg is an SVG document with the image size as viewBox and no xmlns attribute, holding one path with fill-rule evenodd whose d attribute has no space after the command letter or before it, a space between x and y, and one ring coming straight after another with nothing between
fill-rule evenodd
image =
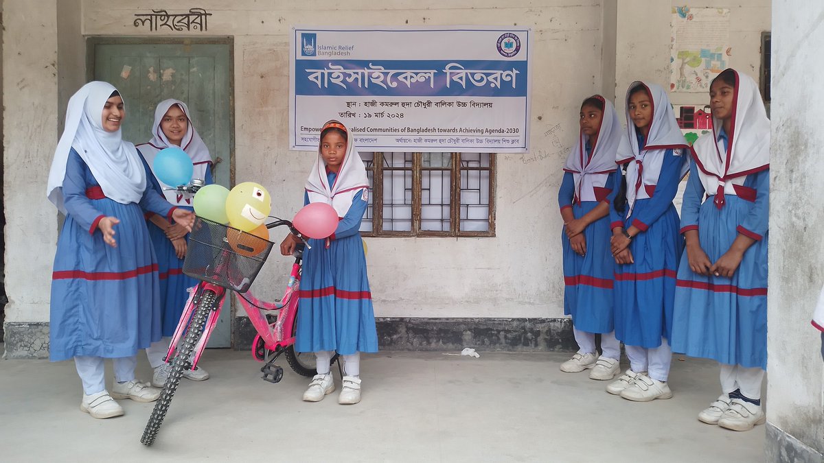
<instances>
[{"instance_id":1,"label":"white headscarf with dark red trim on the girl beside right pillar","mask_svg":"<svg viewBox=\"0 0 824 463\"><path fill-rule=\"evenodd\" d=\"M756 81L747 74L735 72L732 118L726 152L718 142L723 123L715 116L713 132L705 133L692 147L701 184L707 194L716 195L719 208L724 193L735 194L733 185L742 185L747 175L770 168L770 119Z\"/></svg>"}]
</instances>

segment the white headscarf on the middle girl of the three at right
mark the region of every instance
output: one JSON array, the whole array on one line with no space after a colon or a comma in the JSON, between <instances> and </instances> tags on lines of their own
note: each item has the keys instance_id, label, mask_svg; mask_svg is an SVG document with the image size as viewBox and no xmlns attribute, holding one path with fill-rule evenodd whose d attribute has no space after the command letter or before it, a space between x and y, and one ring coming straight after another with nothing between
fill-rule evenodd
<instances>
[{"instance_id":1,"label":"white headscarf on the middle girl of the three at right","mask_svg":"<svg viewBox=\"0 0 824 463\"><path fill-rule=\"evenodd\" d=\"M638 85L644 86L653 100L653 121L643 150L639 149L637 129L630 119L630 91ZM667 92L662 87L649 82L632 82L626 91L625 105L626 137L620 140L616 162L625 164L634 161L626 169L626 202L629 205L626 217L630 217L635 199L649 198L645 187L658 185L658 175L661 175L667 149L672 149L673 154L681 156L680 150L689 148L689 145L678 127ZM684 178L689 168L689 164L682 168L680 178Z\"/></svg>"}]
</instances>

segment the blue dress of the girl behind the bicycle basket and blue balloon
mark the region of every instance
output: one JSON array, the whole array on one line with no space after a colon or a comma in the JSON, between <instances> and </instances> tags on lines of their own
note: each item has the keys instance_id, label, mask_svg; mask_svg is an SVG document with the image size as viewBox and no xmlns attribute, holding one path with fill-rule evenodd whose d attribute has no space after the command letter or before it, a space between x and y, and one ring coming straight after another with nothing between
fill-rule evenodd
<instances>
[{"instance_id":1,"label":"blue dress of the girl behind the bicycle basket and blue balloon","mask_svg":"<svg viewBox=\"0 0 824 463\"><path fill-rule=\"evenodd\" d=\"M157 191L161 196L163 189L154 175L149 175L147 182L152 186L152 189ZM206 185L212 185L211 169L206 169L206 178L204 179ZM194 208L189 206L177 206L188 211L194 211ZM157 268L160 275L160 311L161 311L161 326L164 337L171 337L175 334L177 324L180 321L180 316L183 315L186 302L189 300L189 292L186 290L197 286L199 280L191 278L183 273L183 259L178 259L175 254L175 246L172 246L166 233L160 227L148 220L147 214L146 225L149 229L149 238L152 240L155 254L157 255ZM189 235L186 235L186 241L189 241Z\"/></svg>"}]
</instances>

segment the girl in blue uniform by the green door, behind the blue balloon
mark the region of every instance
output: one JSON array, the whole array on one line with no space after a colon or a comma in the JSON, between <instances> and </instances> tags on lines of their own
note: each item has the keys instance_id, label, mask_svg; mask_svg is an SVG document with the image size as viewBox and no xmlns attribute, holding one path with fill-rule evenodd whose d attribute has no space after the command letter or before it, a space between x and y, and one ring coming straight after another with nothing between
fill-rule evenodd
<instances>
[{"instance_id":1,"label":"girl in blue uniform by the green door, behind the blue balloon","mask_svg":"<svg viewBox=\"0 0 824 463\"><path fill-rule=\"evenodd\" d=\"M152 139L139 144L137 148L147 164L152 166L152 175L149 178L152 188L162 194L168 203L191 211L192 195L164 190L163 188L170 185L164 184L154 173L154 159L158 152L167 147L180 147L189 155L194 165L193 179L204 180L206 185L213 183L212 170L209 168L212 157L198 131L194 129L189 108L183 101L170 99L157 105L152 124ZM171 336L175 334L180 315L183 314L189 298L188 289L196 286L198 281L183 274L183 260L186 256L186 231L183 227L153 213L147 214L147 220L160 275L163 338L146 349L146 356L154 369L152 386L163 387L170 369L170 364L164 362L163 358L166 357ZM208 372L196 367L194 370L185 370L183 376L192 381L204 381L208 379Z\"/></svg>"}]
</instances>

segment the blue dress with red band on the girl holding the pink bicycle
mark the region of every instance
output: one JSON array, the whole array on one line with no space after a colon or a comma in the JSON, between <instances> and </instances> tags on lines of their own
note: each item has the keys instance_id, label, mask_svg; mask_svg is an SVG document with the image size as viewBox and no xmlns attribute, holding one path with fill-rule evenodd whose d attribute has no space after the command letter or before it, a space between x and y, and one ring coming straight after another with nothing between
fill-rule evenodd
<instances>
[{"instance_id":1,"label":"blue dress with red band on the girl holding the pink bicycle","mask_svg":"<svg viewBox=\"0 0 824 463\"><path fill-rule=\"evenodd\" d=\"M335 184L335 176L328 174L329 185ZM309 203L308 197L304 203ZM326 240L309 240L311 249L303 251L297 352L377 352L372 292L358 232L367 204L363 192L355 194L329 247Z\"/></svg>"}]
</instances>

